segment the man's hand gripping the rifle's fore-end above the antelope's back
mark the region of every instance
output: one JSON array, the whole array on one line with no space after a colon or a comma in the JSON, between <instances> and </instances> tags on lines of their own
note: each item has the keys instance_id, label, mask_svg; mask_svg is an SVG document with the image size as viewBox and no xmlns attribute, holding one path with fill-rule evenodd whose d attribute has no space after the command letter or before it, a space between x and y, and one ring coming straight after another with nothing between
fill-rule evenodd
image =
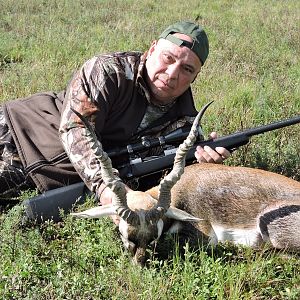
<instances>
[{"instance_id":1,"label":"man's hand gripping the rifle's fore-end above the antelope's back","mask_svg":"<svg viewBox=\"0 0 300 300\"><path fill-rule=\"evenodd\" d=\"M216 132L210 134L210 138L215 139L218 135ZM230 156L230 152L224 147L216 147L213 150L209 146L197 146L195 157L199 163L222 163L223 160Z\"/></svg>"}]
</instances>

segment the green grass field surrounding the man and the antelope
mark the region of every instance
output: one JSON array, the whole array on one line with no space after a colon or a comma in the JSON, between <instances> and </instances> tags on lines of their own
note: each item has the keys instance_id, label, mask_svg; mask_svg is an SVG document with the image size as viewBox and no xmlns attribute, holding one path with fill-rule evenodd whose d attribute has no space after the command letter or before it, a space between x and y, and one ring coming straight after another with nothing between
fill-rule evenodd
<instances>
[{"instance_id":1,"label":"green grass field surrounding the man and the antelope","mask_svg":"<svg viewBox=\"0 0 300 300\"><path fill-rule=\"evenodd\" d=\"M299 115L299 1L6 0L0 2L0 101L60 91L95 54L145 51L170 23L196 20L210 40L193 84L203 124L225 135ZM300 180L299 125L251 140L226 163ZM26 198L26 194L24 197ZM300 262L225 245L134 267L108 220L22 228L0 216L1 299L299 299Z\"/></svg>"}]
</instances>

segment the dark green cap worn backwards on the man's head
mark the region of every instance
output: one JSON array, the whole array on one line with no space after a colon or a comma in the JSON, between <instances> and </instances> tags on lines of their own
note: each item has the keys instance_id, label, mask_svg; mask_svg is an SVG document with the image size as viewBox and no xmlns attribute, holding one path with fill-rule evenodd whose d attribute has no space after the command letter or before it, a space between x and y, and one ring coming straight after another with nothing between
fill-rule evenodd
<instances>
[{"instance_id":1,"label":"dark green cap worn backwards on the man's head","mask_svg":"<svg viewBox=\"0 0 300 300\"><path fill-rule=\"evenodd\" d=\"M193 42L179 39L172 35L173 33L182 33L193 39ZM159 38L166 39L177 46L190 48L200 59L202 65L207 59L209 53L208 38L203 28L195 23L181 21L170 25Z\"/></svg>"}]
</instances>

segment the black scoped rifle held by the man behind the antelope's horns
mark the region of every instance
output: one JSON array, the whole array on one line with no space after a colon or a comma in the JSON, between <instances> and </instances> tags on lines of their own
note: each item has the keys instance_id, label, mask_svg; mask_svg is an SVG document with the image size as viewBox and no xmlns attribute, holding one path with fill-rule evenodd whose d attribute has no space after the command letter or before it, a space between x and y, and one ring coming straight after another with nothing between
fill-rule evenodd
<instances>
[{"instance_id":1,"label":"black scoped rifle held by the man behind the antelope's horns","mask_svg":"<svg viewBox=\"0 0 300 300\"><path fill-rule=\"evenodd\" d=\"M300 123L300 116L238 131L214 140L196 141L186 155L186 164L189 165L195 161L194 153L197 146L209 146L213 149L224 147L233 152L240 146L249 143L252 136L297 123ZM136 180L145 175L161 173L164 170L172 168L177 147L188 136L189 129L189 126L179 128L166 136L158 138L143 137L138 143L114 148L108 150L107 153L113 163L115 158L125 156L125 162L114 165L119 171L119 176L124 181ZM155 147L165 148L163 154L146 158L141 157L142 152ZM47 191L23 202L26 218L36 223L46 220L60 221L60 209L69 212L75 204L83 203L86 197L91 195L92 193L87 190L83 182Z\"/></svg>"}]
</instances>

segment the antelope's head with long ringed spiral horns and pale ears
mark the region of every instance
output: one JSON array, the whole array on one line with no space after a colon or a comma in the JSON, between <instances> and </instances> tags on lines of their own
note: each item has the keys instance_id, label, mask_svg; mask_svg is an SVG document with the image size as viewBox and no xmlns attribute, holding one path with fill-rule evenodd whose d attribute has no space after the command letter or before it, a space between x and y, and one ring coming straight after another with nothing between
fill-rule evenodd
<instances>
[{"instance_id":1,"label":"antelope's head with long ringed spiral horns and pale ears","mask_svg":"<svg viewBox=\"0 0 300 300\"><path fill-rule=\"evenodd\" d=\"M164 227L166 218L197 222L200 219L183 210L170 206L171 189L184 172L185 156L193 146L201 118L212 102L208 103L196 116L188 137L178 147L173 169L165 176L157 188L157 197L150 193L126 190L126 185L113 173L112 163L102 149L94 129L87 119L77 111L73 112L82 120L87 130L87 137L95 156L99 159L104 183L113 191L112 203L97 206L83 212L72 213L80 218L101 218L117 215L120 217L119 232L125 248L134 255L134 262L143 265L147 246L157 241Z\"/></svg>"}]
</instances>

